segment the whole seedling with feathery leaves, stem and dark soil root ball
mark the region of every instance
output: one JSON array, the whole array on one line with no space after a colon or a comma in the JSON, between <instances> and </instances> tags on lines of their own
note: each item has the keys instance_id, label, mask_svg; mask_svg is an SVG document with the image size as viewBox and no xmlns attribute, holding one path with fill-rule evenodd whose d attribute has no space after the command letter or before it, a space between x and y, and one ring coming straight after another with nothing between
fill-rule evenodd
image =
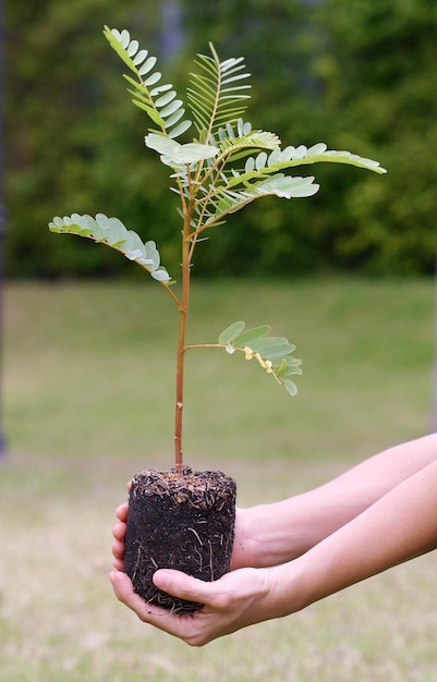
<instances>
[{"instance_id":1,"label":"whole seedling with feathery leaves, stem and dark soil root ball","mask_svg":"<svg viewBox=\"0 0 437 682\"><path fill-rule=\"evenodd\" d=\"M378 162L348 151L328 150L323 143L306 148L282 147L275 133L253 129L243 117L250 98L248 73L242 57L220 61L213 45L209 54L199 54L190 74L186 100L156 70L156 58L128 31L104 31L109 45L129 69L124 78L134 105L151 123L146 147L157 153L169 168L172 191L179 198L181 272L175 283L160 263L154 241L143 241L117 218L73 214L53 218L49 228L60 234L76 234L106 244L132 260L170 296L179 315L175 356L174 465L168 471L147 470L131 482L124 568L135 592L147 601L175 612L202 605L177 600L158 590L151 581L158 568L177 568L205 581L229 571L234 534L235 483L221 472L196 472L182 454L184 409L184 361L189 351L217 348L253 360L288 393L296 392L293 375L301 374L294 345L283 337L270 336L262 325L247 329L235 321L216 343L187 345L191 268L197 244L210 228L223 224L231 214L260 197L313 196L319 188L314 176L286 173L298 166L327 161L386 172ZM189 131L194 131L190 142ZM167 199L166 199L167 200Z\"/></svg>"}]
</instances>

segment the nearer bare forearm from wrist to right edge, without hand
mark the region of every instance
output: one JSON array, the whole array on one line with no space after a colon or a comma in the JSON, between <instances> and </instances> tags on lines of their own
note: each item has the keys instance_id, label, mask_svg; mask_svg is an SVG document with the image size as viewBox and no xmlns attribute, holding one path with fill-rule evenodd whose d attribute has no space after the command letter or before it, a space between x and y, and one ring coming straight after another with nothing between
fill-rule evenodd
<instances>
[{"instance_id":1,"label":"nearer bare forearm from wrist to right edge, without hand","mask_svg":"<svg viewBox=\"0 0 437 682\"><path fill-rule=\"evenodd\" d=\"M292 612L436 549L436 489L434 462L301 558L271 569L279 602Z\"/></svg>"}]
</instances>

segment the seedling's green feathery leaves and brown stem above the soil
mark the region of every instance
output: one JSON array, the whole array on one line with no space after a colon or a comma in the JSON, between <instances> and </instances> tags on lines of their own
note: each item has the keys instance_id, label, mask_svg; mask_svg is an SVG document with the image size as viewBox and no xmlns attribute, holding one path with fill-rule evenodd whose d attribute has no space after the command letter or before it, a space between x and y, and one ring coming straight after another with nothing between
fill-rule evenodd
<instances>
[{"instance_id":1,"label":"seedling's green feathery leaves and brown stem above the soil","mask_svg":"<svg viewBox=\"0 0 437 682\"><path fill-rule=\"evenodd\" d=\"M52 232L77 234L104 243L139 265L172 299L179 310L177 351L174 454L175 467L183 466L182 425L184 358L187 350L220 348L228 353L240 352L257 364L276 381L294 395L296 387L291 379L301 374L301 361L291 354L295 346L284 337L269 336L270 327L263 325L246 329L236 321L222 331L217 343L186 345L186 325L190 310L191 267L198 238L213 226L223 224L231 214L263 196L304 198L316 194L319 185L314 176L284 173L296 166L325 161L345 163L385 173L377 161L349 151L329 150L318 143L309 148L281 147L275 133L253 130L244 121L250 76L242 57L220 61L210 45L210 54L198 54L196 72L190 75L186 100L192 120L185 117L183 100L171 84L162 83L156 71L156 57L141 49L128 31L107 26L105 37L124 62L131 74L124 74L133 103L148 117L153 127L145 137L146 147L159 155L160 161L171 170L170 178L178 194L178 212L182 220L181 293L172 288L174 281L160 264L154 241L143 241L136 232L128 230L118 218L98 214L95 218L73 214L53 218ZM180 143L194 129L191 142ZM166 199L162 199L166 200ZM180 230L180 227L175 229Z\"/></svg>"}]
</instances>

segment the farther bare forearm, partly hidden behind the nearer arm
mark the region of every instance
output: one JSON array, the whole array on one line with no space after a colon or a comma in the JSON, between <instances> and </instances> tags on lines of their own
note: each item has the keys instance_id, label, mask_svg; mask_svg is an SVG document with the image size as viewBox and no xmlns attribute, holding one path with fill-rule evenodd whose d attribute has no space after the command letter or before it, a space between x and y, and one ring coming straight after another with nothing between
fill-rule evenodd
<instances>
[{"instance_id":1,"label":"farther bare forearm, partly hidden behind the nearer arm","mask_svg":"<svg viewBox=\"0 0 437 682\"><path fill-rule=\"evenodd\" d=\"M319 488L246 510L246 565L276 565L303 555L435 461L432 435L385 450Z\"/></svg>"}]
</instances>

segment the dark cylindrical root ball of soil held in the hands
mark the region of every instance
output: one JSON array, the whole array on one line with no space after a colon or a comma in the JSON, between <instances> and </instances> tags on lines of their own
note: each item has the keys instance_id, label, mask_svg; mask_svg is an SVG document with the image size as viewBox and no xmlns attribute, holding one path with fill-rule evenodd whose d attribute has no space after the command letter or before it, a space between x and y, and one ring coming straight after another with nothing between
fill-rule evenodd
<instances>
[{"instance_id":1,"label":"dark cylindrical root ball of soil held in the hands","mask_svg":"<svg viewBox=\"0 0 437 682\"><path fill-rule=\"evenodd\" d=\"M235 482L221 472L148 470L132 479L124 571L150 604L187 613L202 604L157 589L157 569L178 569L203 581L229 571L235 522Z\"/></svg>"}]
</instances>

